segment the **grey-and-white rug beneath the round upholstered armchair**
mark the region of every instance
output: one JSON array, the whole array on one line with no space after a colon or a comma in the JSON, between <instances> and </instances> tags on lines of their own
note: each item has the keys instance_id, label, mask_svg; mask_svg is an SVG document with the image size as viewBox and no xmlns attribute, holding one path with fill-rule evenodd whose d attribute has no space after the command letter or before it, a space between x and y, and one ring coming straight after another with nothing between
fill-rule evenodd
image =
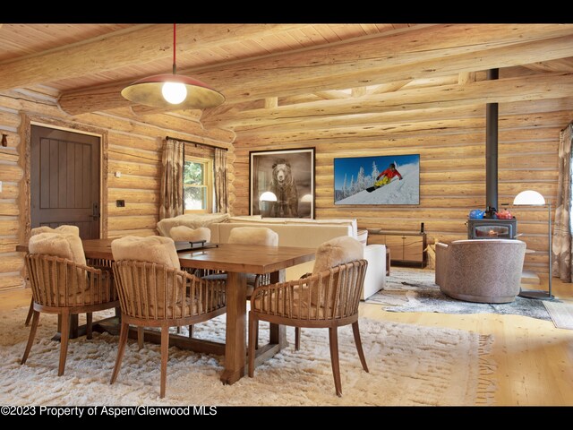
<instances>
[{"instance_id":1,"label":"grey-and-white rug beneath the round upholstered armchair","mask_svg":"<svg viewBox=\"0 0 573 430\"><path fill-rule=\"evenodd\" d=\"M542 300L516 297L512 303L471 303L446 296L434 282L435 272L426 269L392 268L386 287L367 303L382 305L388 312L441 314L515 314L551 321Z\"/></svg>"}]
</instances>

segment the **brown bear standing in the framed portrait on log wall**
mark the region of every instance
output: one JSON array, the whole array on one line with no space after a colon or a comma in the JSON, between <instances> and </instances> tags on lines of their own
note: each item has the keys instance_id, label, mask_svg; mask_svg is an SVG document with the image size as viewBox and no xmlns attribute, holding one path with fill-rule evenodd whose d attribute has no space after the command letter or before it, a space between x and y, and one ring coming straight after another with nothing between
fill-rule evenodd
<instances>
[{"instance_id":1,"label":"brown bear standing in the framed portrait on log wall","mask_svg":"<svg viewBox=\"0 0 573 430\"><path fill-rule=\"evenodd\" d=\"M286 159L275 159L273 162L270 192L277 196L277 202L271 204L270 217L298 218L298 190Z\"/></svg>"}]
</instances>

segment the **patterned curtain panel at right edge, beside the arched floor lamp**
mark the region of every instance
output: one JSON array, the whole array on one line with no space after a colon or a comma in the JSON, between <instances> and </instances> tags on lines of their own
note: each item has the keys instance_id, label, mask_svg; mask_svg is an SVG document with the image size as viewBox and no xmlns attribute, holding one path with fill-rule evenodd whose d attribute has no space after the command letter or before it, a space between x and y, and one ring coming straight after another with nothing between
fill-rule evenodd
<instances>
[{"instance_id":1,"label":"patterned curtain panel at right edge, beside the arched floor lamp","mask_svg":"<svg viewBox=\"0 0 573 430\"><path fill-rule=\"evenodd\" d=\"M571 156L573 155L573 123L560 133L559 187L555 225L553 228L552 274L571 282Z\"/></svg>"}]
</instances>

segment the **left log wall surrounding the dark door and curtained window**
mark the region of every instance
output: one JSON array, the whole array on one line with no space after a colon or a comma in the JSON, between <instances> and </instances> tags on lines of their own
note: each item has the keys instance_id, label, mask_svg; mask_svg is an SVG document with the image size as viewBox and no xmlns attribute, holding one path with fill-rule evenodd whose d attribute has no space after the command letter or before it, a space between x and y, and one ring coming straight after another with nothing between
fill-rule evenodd
<instances>
[{"instance_id":1,"label":"left log wall surrounding the dark door and curtained window","mask_svg":"<svg viewBox=\"0 0 573 430\"><path fill-rule=\"evenodd\" d=\"M21 142L22 112L47 124L67 125L78 132L98 129L107 133L107 236L157 234L158 193L161 170L161 139L166 135L206 142L232 149L235 134L225 130L203 130L201 124L182 116L134 116L127 108L104 114L68 116L46 94L26 91L0 93L0 133L7 134L7 147L0 146L0 290L20 288L23 256L15 246L25 240L25 144ZM229 151L233 179L233 151ZM115 177L119 171L121 177ZM231 190L233 188L231 186ZM116 208L115 200L125 207Z\"/></svg>"}]
</instances>

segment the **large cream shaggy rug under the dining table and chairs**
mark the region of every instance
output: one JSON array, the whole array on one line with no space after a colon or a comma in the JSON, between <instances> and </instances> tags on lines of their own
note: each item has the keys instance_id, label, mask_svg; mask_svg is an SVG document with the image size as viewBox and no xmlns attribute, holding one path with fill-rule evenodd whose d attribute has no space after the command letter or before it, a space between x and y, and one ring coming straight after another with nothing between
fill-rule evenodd
<instances>
[{"instance_id":1,"label":"large cream shaggy rug under the dining table and chairs","mask_svg":"<svg viewBox=\"0 0 573 430\"><path fill-rule=\"evenodd\" d=\"M3 405L475 405L492 401L495 364L491 336L361 319L370 373L363 371L352 330L338 330L343 397L329 359L328 331L304 329L301 350L291 345L257 367L254 378L223 385L223 357L169 349L167 396L159 399L158 345L141 351L130 340L114 385L109 378L117 337L94 333L71 340L65 374L57 376L56 318L42 314L28 362L20 366L29 329L26 308L0 316L0 404ZM98 319L101 313L94 315ZM196 326L196 337L224 341L225 315ZM268 340L261 323L261 340Z\"/></svg>"}]
</instances>

